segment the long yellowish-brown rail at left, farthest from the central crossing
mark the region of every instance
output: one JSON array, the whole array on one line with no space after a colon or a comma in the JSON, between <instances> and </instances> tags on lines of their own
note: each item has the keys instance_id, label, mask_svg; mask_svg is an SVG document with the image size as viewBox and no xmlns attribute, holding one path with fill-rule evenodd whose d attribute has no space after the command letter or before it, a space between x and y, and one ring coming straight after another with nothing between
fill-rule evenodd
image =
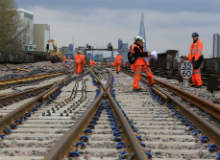
<instances>
[{"instance_id":1,"label":"long yellowish-brown rail at left, farthest from the central crossing","mask_svg":"<svg viewBox=\"0 0 220 160\"><path fill-rule=\"evenodd\" d=\"M65 74L65 73L64 72L46 73L46 74L40 74L40 75L35 75L35 76L30 76L30 77L25 77L25 78L0 81L0 87L12 85L12 84L18 84L18 83L28 83L28 82L42 80L45 78L55 77L55 76L59 76L59 75L63 75L63 74Z\"/></svg>"}]
</instances>

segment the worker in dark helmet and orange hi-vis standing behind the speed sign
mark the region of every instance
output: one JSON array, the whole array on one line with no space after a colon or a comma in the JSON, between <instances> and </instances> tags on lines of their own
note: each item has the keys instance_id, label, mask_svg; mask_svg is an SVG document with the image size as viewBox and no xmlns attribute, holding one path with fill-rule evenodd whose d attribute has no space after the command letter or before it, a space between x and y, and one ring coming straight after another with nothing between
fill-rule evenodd
<instances>
[{"instance_id":1,"label":"worker in dark helmet and orange hi-vis standing behind the speed sign","mask_svg":"<svg viewBox=\"0 0 220 160\"><path fill-rule=\"evenodd\" d=\"M192 33L192 38L193 42L190 46L190 52L187 58L193 65L192 86L200 88L202 86L200 66L203 61L203 43L200 41L199 34L196 32Z\"/></svg>"}]
</instances>

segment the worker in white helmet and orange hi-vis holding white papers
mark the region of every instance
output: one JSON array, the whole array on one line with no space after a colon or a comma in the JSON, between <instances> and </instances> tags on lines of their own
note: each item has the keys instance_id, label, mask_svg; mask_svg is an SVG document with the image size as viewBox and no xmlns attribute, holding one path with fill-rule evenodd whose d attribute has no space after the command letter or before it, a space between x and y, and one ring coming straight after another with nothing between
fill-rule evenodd
<instances>
[{"instance_id":1,"label":"worker in white helmet and orange hi-vis holding white papers","mask_svg":"<svg viewBox=\"0 0 220 160\"><path fill-rule=\"evenodd\" d=\"M143 50L144 39L140 36L135 37L135 42L130 47L130 52L128 53L129 62L134 67L134 81L133 90L141 91L139 82L141 79L141 73L145 73L150 86L152 86L155 81L151 69L149 67L149 60L151 58L157 59L157 53L154 52L144 52Z\"/></svg>"}]
</instances>

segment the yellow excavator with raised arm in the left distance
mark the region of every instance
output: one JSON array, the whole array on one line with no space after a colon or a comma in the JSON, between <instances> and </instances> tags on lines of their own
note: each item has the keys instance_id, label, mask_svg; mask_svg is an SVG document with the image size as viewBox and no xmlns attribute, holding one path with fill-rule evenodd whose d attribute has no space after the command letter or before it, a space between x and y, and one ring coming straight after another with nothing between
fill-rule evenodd
<instances>
[{"instance_id":1,"label":"yellow excavator with raised arm in the left distance","mask_svg":"<svg viewBox=\"0 0 220 160\"><path fill-rule=\"evenodd\" d=\"M50 52L49 52L49 60L52 63L62 62L62 60L63 60L63 53L57 51L56 42L54 40L50 39L50 40L48 40L48 43L51 43L52 46L53 46L53 50L50 50Z\"/></svg>"}]
</instances>

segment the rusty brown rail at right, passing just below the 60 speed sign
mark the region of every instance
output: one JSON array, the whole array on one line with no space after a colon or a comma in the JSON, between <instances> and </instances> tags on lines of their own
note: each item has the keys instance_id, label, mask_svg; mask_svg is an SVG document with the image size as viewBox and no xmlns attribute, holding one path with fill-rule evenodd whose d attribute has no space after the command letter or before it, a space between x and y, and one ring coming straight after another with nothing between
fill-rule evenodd
<instances>
[{"instance_id":1,"label":"rusty brown rail at right, passing just below the 60 speed sign","mask_svg":"<svg viewBox=\"0 0 220 160\"><path fill-rule=\"evenodd\" d=\"M212 115L213 117L215 117L217 120L220 120L220 105L214 104L214 103L209 102L205 99L202 99L196 95L190 94L184 90L181 90L181 89L175 87L174 85L171 85L167 82L161 81L157 78L155 78L155 81L159 85L167 88L168 90L172 91L176 95L182 97L187 102L194 104L195 106L199 107L203 111L205 111L205 112L209 113L210 115Z\"/></svg>"}]
</instances>

